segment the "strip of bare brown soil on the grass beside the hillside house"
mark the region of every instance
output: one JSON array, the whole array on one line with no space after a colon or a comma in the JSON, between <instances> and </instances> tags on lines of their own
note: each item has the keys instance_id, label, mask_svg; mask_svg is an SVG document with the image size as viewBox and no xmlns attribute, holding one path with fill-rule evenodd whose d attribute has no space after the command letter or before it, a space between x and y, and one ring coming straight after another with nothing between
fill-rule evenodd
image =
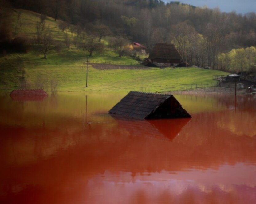
<instances>
[{"instance_id":1,"label":"strip of bare brown soil on the grass beside the hillside house","mask_svg":"<svg viewBox=\"0 0 256 204\"><path fill-rule=\"evenodd\" d=\"M89 63L95 69L150 69L146 66L132 66L132 65L112 65L112 64L99 64Z\"/></svg>"}]
</instances>

